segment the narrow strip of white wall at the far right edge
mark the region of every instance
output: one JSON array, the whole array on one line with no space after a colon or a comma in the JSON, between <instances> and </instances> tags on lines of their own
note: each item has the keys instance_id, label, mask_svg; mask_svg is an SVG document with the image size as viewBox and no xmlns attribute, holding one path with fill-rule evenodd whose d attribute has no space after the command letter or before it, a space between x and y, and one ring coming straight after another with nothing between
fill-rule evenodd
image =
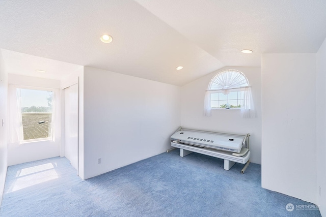
<instances>
[{"instance_id":1,"label":"narrow strip of white wall at the far right edge","mask_svg":"<svg viewBox=\"0 0 326 217\"><path fill-rule=\"evenodd\" d=\"M326 216L326 39L317 52L317 204ZM319 187L321 192L319 194Z\"/></svg>"}]
</instances>

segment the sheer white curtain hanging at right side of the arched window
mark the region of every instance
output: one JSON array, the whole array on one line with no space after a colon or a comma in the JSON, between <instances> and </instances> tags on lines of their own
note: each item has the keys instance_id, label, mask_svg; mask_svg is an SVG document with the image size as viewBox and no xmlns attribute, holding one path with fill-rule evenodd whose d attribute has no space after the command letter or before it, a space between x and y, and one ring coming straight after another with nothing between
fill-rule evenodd
<instances>
[{"instance_id":1,"label":"sheer white curtain hanging at right side of the arched window","mask_svg":"<svg viewBox=\"0 0 326 217\"><path fill-rule=\"evenodd\" d=\"M254 107L254 101L251 94L251 87L241 88L241 99L243 99L240 110L241 116L244 118L256 117L256 110Z\"/></svg>"}]
</instances>

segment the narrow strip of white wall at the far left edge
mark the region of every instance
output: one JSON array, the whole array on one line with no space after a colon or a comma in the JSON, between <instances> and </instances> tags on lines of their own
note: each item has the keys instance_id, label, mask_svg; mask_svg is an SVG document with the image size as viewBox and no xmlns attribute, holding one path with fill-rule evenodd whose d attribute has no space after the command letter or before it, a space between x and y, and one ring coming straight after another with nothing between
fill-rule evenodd
<instances>
[{"instance_id":1,"label":"narrow strip of white wall at the far left edge","mask_svg":"<svg viewBox=\"0 0 326 217\"><path fill-rule=\"evenodd\" d=\"M7 174L7 91L8 74L5 71L4 60L0 50L0 205ZM4 120L4 126L2 125Z\"/></svg>"}]
</instances>

